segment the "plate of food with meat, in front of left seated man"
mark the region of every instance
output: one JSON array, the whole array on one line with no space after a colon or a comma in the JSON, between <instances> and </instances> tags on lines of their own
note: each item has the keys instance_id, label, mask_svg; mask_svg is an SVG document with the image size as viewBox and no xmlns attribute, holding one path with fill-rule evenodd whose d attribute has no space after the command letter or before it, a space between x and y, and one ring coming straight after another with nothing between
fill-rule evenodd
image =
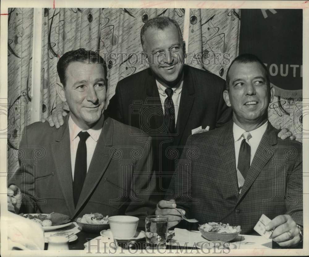
<instances>
[{"instance_id":1,"label":"plate of food with meat, in front of left seated man","mask_svg":"<svg viewBox=\"0 0 309 257\"><path fill-rule=\"evenodd\" d=\"M19 214L27 219L32 220L42 226L44 231L53 231L70 226L73 222L70 222L71 218L65 214L52 212L50 214L44 213L28 213Z\"/></svg>"}]
</instances>

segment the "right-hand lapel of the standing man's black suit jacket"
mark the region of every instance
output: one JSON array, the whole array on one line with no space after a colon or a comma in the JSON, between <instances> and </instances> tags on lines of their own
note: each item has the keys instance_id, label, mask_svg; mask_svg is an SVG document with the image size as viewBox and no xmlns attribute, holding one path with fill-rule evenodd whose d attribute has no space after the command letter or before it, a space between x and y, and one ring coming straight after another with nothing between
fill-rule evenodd
<instances>
[{"instance_id":1,"label":"right-hand lapel of the standing man's black suit jacket","mask_svg":"<svg viewBox=\"0 0 309 257\"><path fill-rule=\"evenodd\" d=\"M178 129L178 131L175 138L175 145L179 145L181 137L184 133L184 129L191 113L194 98L194 81L188 67L184 65L184 82L179 103L180 106L176 124L176 129Z\"/></svg>"}]
</instances>

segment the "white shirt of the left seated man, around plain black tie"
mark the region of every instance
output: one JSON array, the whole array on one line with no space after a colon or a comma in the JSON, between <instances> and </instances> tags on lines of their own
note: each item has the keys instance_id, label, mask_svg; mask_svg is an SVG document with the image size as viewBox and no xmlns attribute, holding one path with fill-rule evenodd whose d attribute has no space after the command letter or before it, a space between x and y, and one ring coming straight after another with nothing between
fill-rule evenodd
<instances>
[{"instance_id":1,"label":"white shirt of the left seated man, around plain black tie","mask_svg":"<svg viewBox=\"0 0 309 257\"><path fill-rule=\"evenodd\" d=\"M86 147L87 147L87 172L90 166L90 162L95 151L95 146L98 142L99 136L102 131L104 122L104 116L102 115L101 119L91 128L88 130L83 130L79 128L74 121L72 120L71 116L69 117L69 130L70 130L70 149L71 149L71 168L72 168L72 179L74 180L74 168L75 168L75 159L76 159L76 152L79 143L78 133L83 131L87 131L89 133L89 137L86 140Z\"/></svg>"}]
</instances>

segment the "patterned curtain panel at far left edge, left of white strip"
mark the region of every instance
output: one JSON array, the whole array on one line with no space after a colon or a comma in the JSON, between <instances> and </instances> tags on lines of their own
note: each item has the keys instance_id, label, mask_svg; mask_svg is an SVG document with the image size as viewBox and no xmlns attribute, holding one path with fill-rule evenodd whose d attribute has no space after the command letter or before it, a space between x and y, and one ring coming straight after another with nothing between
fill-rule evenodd
<instances>
[{"instance_id":1,"label":"patterned curtain panel at far left edge, left of white strip","mask_svg":"<svg viewBox=\"0 0 309 257\"><path fill-rule=\"evenodd\" d=\"M9 8L8 14L7 148L8 171L13 172L20 136L31 123L33 8Z\"/></svg>"}]
</instances>

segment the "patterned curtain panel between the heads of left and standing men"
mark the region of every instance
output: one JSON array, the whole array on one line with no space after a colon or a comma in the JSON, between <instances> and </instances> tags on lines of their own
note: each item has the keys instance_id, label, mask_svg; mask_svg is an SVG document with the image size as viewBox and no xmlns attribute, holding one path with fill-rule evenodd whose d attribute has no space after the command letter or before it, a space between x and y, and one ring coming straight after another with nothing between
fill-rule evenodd
<instances>
[{"instance_id":1,"label":"patterned curtain panel between the heads of left and standing men","mask_svg":"<svg viewBox=\"0 0 309 257\"><path fill-rule=\"evenodd\" d=\"M109 101L119 80L146 68L140 64L140 31L146 20L159 15L175 19L183 29L183 9L45 8L42 117L46 118L55 108L63 107L55 90L56 83L59 83L57 61L62 54L78 48L99 49L108 63Z\"/></svg>"}]
</instances>

